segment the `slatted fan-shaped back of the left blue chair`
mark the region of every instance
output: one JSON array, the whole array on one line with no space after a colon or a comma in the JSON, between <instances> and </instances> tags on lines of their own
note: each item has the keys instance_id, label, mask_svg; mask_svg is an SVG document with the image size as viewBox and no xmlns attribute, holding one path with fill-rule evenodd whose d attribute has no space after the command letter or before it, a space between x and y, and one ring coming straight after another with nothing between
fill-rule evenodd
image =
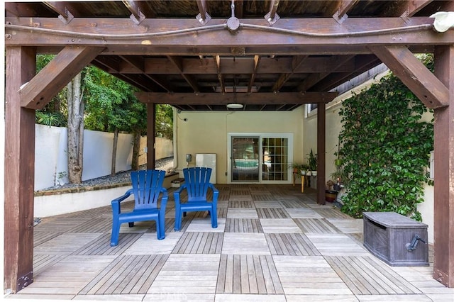
<instances>
[{"instance_id":1,"label":"slatted fan-shaped back of the left blue chair","mask_svg":"<svg viewBox=\"0 0 454 302\"><path fill-rule=\"evenodd\" d=\"M135 210L157 208L165 171L140 170L131 172Z\"/></svg>"}]
</instances>

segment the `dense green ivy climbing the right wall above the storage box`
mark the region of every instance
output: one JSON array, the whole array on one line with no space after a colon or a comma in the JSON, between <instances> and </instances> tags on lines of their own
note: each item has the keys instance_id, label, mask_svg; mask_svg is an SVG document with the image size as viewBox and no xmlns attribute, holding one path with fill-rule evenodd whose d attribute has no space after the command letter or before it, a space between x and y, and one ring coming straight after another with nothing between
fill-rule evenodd
<instances>
[{"instance_id":1,"label":"dense green ivy climbing the right wall above the storage box","mask_svg":"<svg viewBox=\"0 0 454 302\"><path fill-rule=\"evenodd\" d=\"M339 155L350 179L344 213L394 211L421 221L416 205L423 202L433 150L433 123L421 121L426 111L393 74L343 101Z\"/></svg>"}]
</instances>

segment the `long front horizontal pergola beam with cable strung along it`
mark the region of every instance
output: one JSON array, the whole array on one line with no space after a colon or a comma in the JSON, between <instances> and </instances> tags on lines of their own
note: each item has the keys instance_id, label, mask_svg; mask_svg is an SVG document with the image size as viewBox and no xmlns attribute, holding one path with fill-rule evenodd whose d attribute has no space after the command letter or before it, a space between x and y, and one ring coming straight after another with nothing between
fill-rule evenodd
<instances>
[{"instance_id":1,"label":"long front horizontal pergola beam with cable strung along it","mask_svg":"<svg viewBox=\"0 0 454 302\"><path fill-rule=\"evenodd\" d=\"M96 23L96 26L91 26L93 23ZM33 27L31 24L36 26ZM364 47L454 43L453 30L437 35L432 30L433 18L427 17L414 17L407 22L403 18L349 18L341 27L333 18L303 18L279 20L276 25L263 26L262 21L257 19L243 19L239 29L241 35L233 35L226 29L225 20L221 19L211 20L210 26L203 27L195 19L145 19L140 26L159 30L138 34L137 26L131 20L123 18L74 18L67 25L55 18L6 18L5 43L40 45L45 40L48 46L57 46L67 45L68 40L74 39L80 40L79 43L84 45L103 45L117 50L119 47L126 47L128 51L142 53L150 51L148 45L168 47L167 55L175 51L172 47L183 47L187 55L205 55L205 47L228 45L226 49L230 54L232 48L245 47L244 55L247 55L255 51L254 47L269 45L279 47L304 45L315 47L314 53L321 53L325 52L323 47L335 49L346 47L345 45ZM182 28L187 31L181 33ZM323 28L323 32L320 28ZM196 39L194 34L197 35ZM257 39L258 34L266 34L267 39ZM192 47L196 47L196 50Z\"/></svg>"}]
</instances>

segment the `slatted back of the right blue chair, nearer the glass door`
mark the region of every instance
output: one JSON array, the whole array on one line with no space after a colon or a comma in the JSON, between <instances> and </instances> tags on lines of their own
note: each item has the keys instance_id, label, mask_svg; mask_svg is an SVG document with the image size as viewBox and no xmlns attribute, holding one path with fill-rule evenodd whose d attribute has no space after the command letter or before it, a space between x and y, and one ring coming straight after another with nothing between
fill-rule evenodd
<instances>
[{"instance_id":1,"label":"slatted back of the right blue chair, nearer the glass door","mask_svg":"<svg viewBox=\"0 0 454 302\"><path fill-rule=\"evenodd\" d=\"M187 188L188 201L206 201L211 177L211 168L184 168L184 182Z\"/></svg>"}]
</instances>

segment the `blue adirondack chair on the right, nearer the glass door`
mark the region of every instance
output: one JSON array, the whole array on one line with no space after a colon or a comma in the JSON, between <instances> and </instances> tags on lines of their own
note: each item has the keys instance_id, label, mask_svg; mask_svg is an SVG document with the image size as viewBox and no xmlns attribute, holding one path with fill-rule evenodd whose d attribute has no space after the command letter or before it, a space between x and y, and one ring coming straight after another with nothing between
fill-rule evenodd
<instances>
[{"instance_id":1,"label":"blue adirondack chair on the right, nearer the glass door","mask_svg":"<svg viewBox=\"0 0 454 302\"><path fill-rule=\"evenodd\" d=\"M174 192L175 230L182 228L182 214L194 211L209 211L211 227L218 227L217 204L219 191L210 183L211 168L191 167L183 169L184 183ZM182 203L180 194L187 190L187 201ZM208 189L213 191L213 200L207 201Z\"/></svg>"}]
</instances>

